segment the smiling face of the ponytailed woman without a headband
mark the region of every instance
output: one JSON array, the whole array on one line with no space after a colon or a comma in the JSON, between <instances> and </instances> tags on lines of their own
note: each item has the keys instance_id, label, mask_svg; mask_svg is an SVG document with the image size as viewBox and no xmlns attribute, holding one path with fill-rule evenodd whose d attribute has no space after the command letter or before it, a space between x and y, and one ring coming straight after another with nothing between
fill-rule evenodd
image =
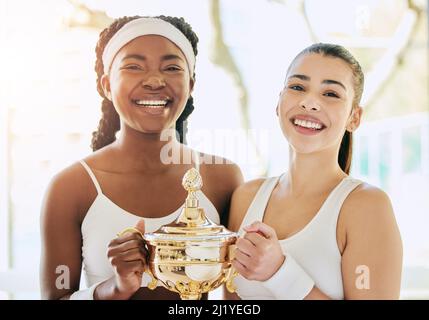
<instances>
[{"instance_id":1,"label":"smiling face of the ponytailed woman without a headband","mask_svg":"<svg viewBox=\"0 0 429 320\"><path fill-rule=\"evenodd\" d=\"M338 152L345 130L359 125L361 108L352 108L354 94L352 70L342 59L316 53L298 57L277 106L280 126L292 149Z\"/></svg>"}]
</instances>

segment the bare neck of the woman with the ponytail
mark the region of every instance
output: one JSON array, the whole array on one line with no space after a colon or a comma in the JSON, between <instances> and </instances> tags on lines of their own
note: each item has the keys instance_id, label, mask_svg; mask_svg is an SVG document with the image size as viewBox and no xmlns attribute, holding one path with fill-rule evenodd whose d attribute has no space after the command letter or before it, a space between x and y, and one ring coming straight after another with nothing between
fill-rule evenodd
<instances>
[{"instance_id":1,"label":"bare neck of the woman with the ponytail","mask_svg":"<svg viewBox=\"0 0 429 320\"><path fill-rule=\"evenodd\" d=\"M287 189L291 195L320 194L347 176L338 164L338 155L332 150L302 154L290 150Z\"/></svg>"}]
</instances>

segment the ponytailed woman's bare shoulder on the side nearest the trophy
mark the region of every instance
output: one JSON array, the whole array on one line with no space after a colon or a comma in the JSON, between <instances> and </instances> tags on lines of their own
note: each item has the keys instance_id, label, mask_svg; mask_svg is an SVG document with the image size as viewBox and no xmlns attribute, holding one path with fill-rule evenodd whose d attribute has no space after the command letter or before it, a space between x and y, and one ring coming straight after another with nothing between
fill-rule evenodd
<instances>
[{"instance_id":1,"label":"ponytailed woman's bare shoulder on the side nearest the trophy","mask_svg":"<svg viewBox=\"0 0 429 320\"><path fill-rule=\"evenodd\" d=\"M248 181L239 186L232 195L228 228L237 231L246 215L256 193L266 179Z\"/></svg>"}]
</instances>

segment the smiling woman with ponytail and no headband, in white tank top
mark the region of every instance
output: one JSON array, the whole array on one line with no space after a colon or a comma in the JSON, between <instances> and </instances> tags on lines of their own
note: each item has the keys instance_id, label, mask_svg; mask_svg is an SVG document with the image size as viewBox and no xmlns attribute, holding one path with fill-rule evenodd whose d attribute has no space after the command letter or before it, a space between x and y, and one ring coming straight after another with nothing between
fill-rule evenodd
<instances>
[{"instance_id":1,"label":"smiling woman with ponytail and no headband, in white tank top","mask_svg":"<svg viewBox=\"0 0 429 320\"><path fill-rule=\"evenodd\" d=\"M364 75L343 47L297 55L277 116L289 142L280 177L240 186L229 228L241 299L397 299L402 243L388 196L349 175Z\"/></svg>"}]
</instances>

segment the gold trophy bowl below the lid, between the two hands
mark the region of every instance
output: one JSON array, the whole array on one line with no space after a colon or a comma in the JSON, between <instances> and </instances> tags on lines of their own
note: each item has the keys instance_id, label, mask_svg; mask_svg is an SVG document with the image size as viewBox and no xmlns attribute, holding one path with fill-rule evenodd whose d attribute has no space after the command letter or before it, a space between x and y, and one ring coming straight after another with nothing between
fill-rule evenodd
<instances>
[{"instance_id":1,"label":"gold trophy bowl below the lid, between the two hands","mask_svg":"<svg viewBox=\"0 0 429 320\"><path fill-rule=\"evenodd\" d=\"M155 279L149 288L159 281L184 300L200 299L223 283L234 290L231 248L236 236L184 235L180 239L145 234L144 239L149 249L149 273Z\"/></svg>"}]
</instances>

